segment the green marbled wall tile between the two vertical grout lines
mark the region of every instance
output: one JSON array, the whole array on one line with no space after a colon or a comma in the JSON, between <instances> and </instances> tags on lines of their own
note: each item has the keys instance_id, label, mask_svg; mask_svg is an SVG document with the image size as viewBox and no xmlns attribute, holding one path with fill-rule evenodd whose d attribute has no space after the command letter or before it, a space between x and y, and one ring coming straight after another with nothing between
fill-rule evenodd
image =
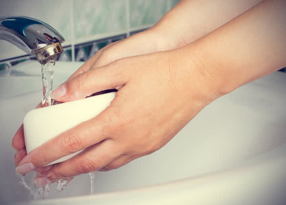
<instances>
[{"instance_id":1,"label":"green marbled wall tile between the two vertical grout lines","mask_svg":"<svg viewBox=\"0 0 286 205\"><path fill-rule=\"evenodd\" d=\"M125 0L74 0L75 38L126 28Z\"/></svg>"}]
</instances>

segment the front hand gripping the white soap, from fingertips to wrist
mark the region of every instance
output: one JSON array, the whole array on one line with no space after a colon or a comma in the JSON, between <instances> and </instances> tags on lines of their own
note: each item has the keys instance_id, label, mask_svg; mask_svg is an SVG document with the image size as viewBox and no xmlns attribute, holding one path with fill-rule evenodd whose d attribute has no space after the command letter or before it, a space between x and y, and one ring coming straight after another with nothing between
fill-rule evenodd
<instances>
[{"instance_id":1,"label":"front hand gripping the white soap, from fingertips to wrist","mask_svg":"<svg viewBox=\"0 0 286 205\"><path fill-rule=\"evenodd\" d=\"M17 172L31 171L85 149L40 174L35 182L44 185L116 169L160 149L215 98L210 92L213 80L194 62L186 58L183 49L156 52L120 59L67 81L58 88L63 92L54 91L56 100L76 100L106 89L118 91L101 114L25 156Z\"/></svg>"}]
</instances>

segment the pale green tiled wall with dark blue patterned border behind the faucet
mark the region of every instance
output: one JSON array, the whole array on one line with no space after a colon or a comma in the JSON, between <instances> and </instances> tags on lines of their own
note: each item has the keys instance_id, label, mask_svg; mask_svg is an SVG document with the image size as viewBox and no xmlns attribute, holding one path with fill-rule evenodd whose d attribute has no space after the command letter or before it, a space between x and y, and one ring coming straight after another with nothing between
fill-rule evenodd
<instances>
[{"instance_id":1,"label":"pale green tiled wall with dark blue patterned border behind the faucet","mask_svg":"<svg viewBox=\"0 0 286 205\"><path fill-rule=\"evenodd\" d=\"M66 39L59 60L86 61L103 46L152 26L178 1L5 0L0 16L28 16L51 25ZM0 70L30 58L0 40Z\"/></svg>"}]
</instances>

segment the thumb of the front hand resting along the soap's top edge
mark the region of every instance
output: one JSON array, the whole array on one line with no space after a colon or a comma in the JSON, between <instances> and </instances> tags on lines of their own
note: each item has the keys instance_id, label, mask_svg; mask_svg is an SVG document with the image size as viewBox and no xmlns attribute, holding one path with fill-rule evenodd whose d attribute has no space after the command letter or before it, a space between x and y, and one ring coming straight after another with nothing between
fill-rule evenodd
<instances>
[{"instance_id":1,"label":"thumb of the front hand resting along the soap's top edge","mask_svg":"<svg viewBox=\"0 0 286 205\"><path fill-rule=\"evenodd\" d=\"M67 102L85 98L98 91L118 90L129 78L127 69L123 69L122 61L120 59L81 73L52 91L50 97L60 102Z\"/></svg>"}]
</instances>

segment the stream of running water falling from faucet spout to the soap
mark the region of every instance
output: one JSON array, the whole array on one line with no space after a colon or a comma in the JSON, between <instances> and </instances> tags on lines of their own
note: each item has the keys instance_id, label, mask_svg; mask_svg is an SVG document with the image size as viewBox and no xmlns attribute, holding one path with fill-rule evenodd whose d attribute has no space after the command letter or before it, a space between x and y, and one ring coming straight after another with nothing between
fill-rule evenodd
<instances>
[{"instance_id":1,"label":"stream of running water falling from faucet spout to the soap","mask_svg":"<svg viewBox=\"0 0 286 205\"><path fill-rule=\"evenodd\" d=\"M42 105L52 105L50 93L53 89L53 77L56 59L49 60L46 64L42 64L42 80L43 80L43 99Z\"/></svg>"}]
</instances>

